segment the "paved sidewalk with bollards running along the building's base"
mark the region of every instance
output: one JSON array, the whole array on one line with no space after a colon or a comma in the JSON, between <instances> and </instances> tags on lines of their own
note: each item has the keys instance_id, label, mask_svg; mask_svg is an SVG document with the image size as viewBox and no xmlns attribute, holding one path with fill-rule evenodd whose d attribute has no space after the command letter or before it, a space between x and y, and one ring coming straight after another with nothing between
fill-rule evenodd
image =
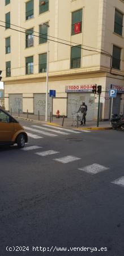
<instances>
[{"instance_id":1,"label":"paved sidewalk with bollards running along the building's base","mask_svg":"<svg viewBox=\"0 0 124 256\"><path fill-rule=\"evenodd\" d=\"M62 126L62 122L63 122L63 118L56 118L53 117L53 121L50 123L50 117L48 117L48 122L45 122L45 117L40 115L40 121L39 121L39 116L38 115L31 115L28 114L28 118L27 118L27 114L20 114L18 117L18 114L14 113L12 114L15 118L20 118L20 119L24 119L27 121L35 121L35 122L40 122L40 123L48 123L49 125L56 125L56 126ZM77 128L77 123L76 122L72 122L71 118L65 118L64 122L63 122L63 127L68 127L68 128L73 128L73 129L83 129L83 130L88 130L88 129L92 129L92 130L109 130L111 129L110 126L110 122L109 121L102 121L99 122L99 127L97 127L97 121L86 121L86 125L85 126L80 126L80 122L79 122L79 127Z\"/></svg>"}]
</instances>

